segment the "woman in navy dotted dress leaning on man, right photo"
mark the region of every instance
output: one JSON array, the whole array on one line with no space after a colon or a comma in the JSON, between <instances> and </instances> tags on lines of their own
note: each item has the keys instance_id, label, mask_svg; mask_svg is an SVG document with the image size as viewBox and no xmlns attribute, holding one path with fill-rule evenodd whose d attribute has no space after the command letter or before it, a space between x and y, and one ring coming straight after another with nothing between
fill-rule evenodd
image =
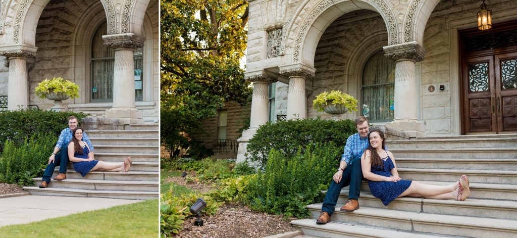
<instances>
[{"instance_id":1,"label":"woman in navy dotted dress leaning on man, right photo","mask_svg":"<svg viewBox=\"0 0 517 238\"><path fill-rule=\"evenodd\" d=\"M458 182L449 185L431 185L399 177L397 164L391 152L383 150L384 133L372 129L370 142L361 157L362 175L369 180L373 196L381 199L385 206L398 197L424 197L429 199L455 199L465 201L470 196L467 176L461 175Z\"/></svg>"}]
</instances>

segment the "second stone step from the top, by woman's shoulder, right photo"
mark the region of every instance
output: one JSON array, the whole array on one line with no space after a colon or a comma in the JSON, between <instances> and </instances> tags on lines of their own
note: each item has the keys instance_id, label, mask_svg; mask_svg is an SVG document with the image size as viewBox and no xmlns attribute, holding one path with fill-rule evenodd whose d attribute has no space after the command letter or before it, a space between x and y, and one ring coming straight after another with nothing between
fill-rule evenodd
<instances>
[{"instance_id":1,"label":"second stone step from the top, by woman's shoulder, right photo","mask_svg":"<svg viewBox=\"0 0 517 238\"><path fill-rule=\"evenodd\" d=\"M395 158L517 158L517 147L511 148L392 148ZM497 152L497 153L494 153Z\"/></svg>"}]
</instances>

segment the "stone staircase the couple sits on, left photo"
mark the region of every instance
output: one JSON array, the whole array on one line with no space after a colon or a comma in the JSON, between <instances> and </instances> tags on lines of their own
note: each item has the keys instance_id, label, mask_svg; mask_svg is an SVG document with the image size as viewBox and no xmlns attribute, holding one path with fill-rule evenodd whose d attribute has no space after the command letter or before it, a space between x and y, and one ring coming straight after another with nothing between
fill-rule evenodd
<instances>
[{"instance_id":1,"label":"stone staircase the couple sits on, left photo","mask_svg":"<svg viewBox=\"0 0 517 238\"><path fill-rule=\"evenodd\" d=\"M127 130L86 131L95 147L95 158L102 161L124 161L130 156L133 167L124 172L93 171L82 177L69 162L67 179L51 180L48 188L24 187L32 195L100 197L121 199L155 199L159 196L158 125L131 125ZM57 175L59 167L54 170Z\"/></svg>"}]
</instances>

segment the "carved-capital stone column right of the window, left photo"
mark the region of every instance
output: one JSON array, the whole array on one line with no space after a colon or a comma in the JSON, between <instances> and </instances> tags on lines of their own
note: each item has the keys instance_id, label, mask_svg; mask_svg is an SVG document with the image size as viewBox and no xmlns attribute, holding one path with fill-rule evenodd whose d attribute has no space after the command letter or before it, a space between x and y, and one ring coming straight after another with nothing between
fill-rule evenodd
<instances>
[{"instance_id":1,"label":"carved-capital stone column right of the window, left photo","mask_svg":"<svg viewBox=\"0 0 517 238\"><path fill-rule=\"evenodd\" d=\"M143 124L142 111L134 102L134 58L133 50L144 46L145 38L133 33L102 36L106 46L115 49L113 71L113 107L104 117L115 118L128 124Z\"/></svg>"}]
</instances>

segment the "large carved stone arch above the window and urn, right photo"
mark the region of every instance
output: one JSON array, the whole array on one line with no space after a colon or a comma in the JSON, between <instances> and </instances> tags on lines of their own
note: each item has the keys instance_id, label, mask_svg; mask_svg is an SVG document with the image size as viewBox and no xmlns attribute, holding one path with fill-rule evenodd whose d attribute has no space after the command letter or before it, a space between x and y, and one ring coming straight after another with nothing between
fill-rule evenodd
<instances>
[{"instance_id":1,"label":"large carved stone arch above the window and urn, right photo","mask_svg":"<svg viewBox=\"0 0 517 238\"><path fill-rule=\"evenodd\" d=\"M396 18L384 0L306 0L296 9L284 31L284 48L287 54L291 54L291 63L313 67L318 39L328 25L342 14L360 9L369 9L381 14L388 31L389 44L399 43Z\"/></svg>"}]
</instances>

